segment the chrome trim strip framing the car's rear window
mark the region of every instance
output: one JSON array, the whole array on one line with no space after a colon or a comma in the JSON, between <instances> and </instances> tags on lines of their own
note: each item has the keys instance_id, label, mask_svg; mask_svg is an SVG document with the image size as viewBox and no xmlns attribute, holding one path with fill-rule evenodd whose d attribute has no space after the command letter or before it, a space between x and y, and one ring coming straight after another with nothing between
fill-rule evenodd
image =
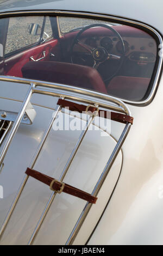
<instances>
[{"instance_id":1,"label":"chrome trim strip framing the car's rear window","mask_svg":"<svg viewBox=\"0 0 163 256\"><path fill-rule=\"evenodd\" d=\"M157 38L159 39L159 42L160 44L163 44L163 40L162 40L162 36L161 34L156 31L154 28L150 27L149 25L146 25L145 23L142 23L142 22L139 22L139 21L133 21L133 20L130 20L130 19L126 19L126 18L122 18L122 17L115 17L115 16L111 16L111 15L106 15L106 14L97 14L97 13L84 13L84 12L79 12L79 11L62 11L62 10L36 10L36 11L11 11L11 12L7 12L7 13L0 13L0 16L2 17L7 17L7 16L10 16L10 15L23 15L23 14L41 14L41 15L46 15L46 14L57 14L57 15L78 15L78 16L90 16L92 19L93 17L95 18L99 18L99 19L111 19L111 20L114 20L114 21L120 21L120 22L125 22L125 23L128 23L128 25L130 24L133 24L133 25L137 25L137 26L140 26L143 28L146 28L148 29L149 31L151 31L153 34L155 34L157 36ZM159 78L160 78L160 74L161 74L161 68L162 68L162 63L163 63L163 56L159 57L159 64L158 64L158 68L157 68L157 71L156 71L156 75L155 75L155 78L154 78L154 82L153 82L153 87L152 87L152 90L151 90L151 93L149 94L149 96L147 97L146 100L143 100L143 101L129 101L129 100L125 100L125 99L120 99L120 100L123 100L124 102L128 103L128 104L131 104L131 105L137 105L137 106L146 106L148 105L149 103L151 103L151 101L153 100L154 98L154 95L155 95L155 92L156 92L156 89L158 88L158 85L159 85ZM5 76L0 76L0 80L3 80L3 81L11 81L11 82L14 82L14 78L13 77L12 79L9 78L8 80L8 77L6 79L4 79ZM27 81L27 80L26 80ZM30 80L30 82L35 82L34 80ZM41 84L43 84L43 82L39 81ZM105 96L106 94L101 94L103 96Z\"/></svg>"}]
</instances>

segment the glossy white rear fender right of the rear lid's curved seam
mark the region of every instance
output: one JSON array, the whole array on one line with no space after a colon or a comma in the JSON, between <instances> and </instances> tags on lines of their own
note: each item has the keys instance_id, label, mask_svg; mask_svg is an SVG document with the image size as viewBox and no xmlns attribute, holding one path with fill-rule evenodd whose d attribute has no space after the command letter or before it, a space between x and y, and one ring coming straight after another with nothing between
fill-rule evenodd
<instances>
[{"instance_id":1,"label":"glossy white rear fender right of the rear lid's curved seam","mask_svg":"<svg viewBox=\"0 0 163 256\"><path fill-rule=\"evenodd\" d=\"M89 244L163 244L162 82L149 106L130 107L121 178Z\"/></svg>"}]
</instances>

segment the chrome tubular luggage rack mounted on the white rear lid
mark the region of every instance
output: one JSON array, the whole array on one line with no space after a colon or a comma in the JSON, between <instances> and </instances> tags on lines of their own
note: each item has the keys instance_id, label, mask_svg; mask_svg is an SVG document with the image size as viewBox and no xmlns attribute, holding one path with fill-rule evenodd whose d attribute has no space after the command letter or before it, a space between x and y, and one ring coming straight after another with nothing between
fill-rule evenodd
<instances>
[{"instance_id":1,"label":"chrome tubular luggage rack mounted on the white rear lid","mask_svg":"<svg viewBox=\"0 0 163 256\"><path fill-rule=\"evenodd\" d=\"M9 135L8 135L8 137L5 141L4 147L1 151L0 167L3 164L4 157L5 157L5 155L8 151L8 148L11 144L11 141L12 141L12 139L13 139L13 137L14 137L17 129L18 129L18 126L21 123L23 115L26 111L28 103L30 102L30 99L31 99L33 94L50 95L50 96L58 97L59 99L64 99L64 100L69 99L69 100L73 100L73 101L76 101L76 102L83 102L83 103L86 103L88 105L87 109L89 108L90 105L91 106L93 105L96 108L101 108L102 107L102 108L109 109L109 110L112 110L112 111L115 111L115 112L118 112L118 113L119 112L124 113L124 114L128 115L129 117L131 117L131 114L130 114L130 111L129 111L128 107L121 100L118 100L115 97L111 97L109 95L104 95L104 94L101 94L101 93L92 92L91 90L80 89L80 88L77 88L77 87L65 86L65 85L62 85L62 84L43 83L43 82L40 82L40 81L31 81L31 80L29 81L29 80L25 80L23 78L2 77L1 76L0 80L30 84L30 87L28 89L26 97L25 97L25 99L22 103L22 107L20 109L20 112L17 114L17 118L16 118L16 120L14 121L14 123L11 127ZM53 90L49 90L47 88L51 88ZM54 89L57 89L57 90L54 90ZM60 92L60 90L61 90L61 92ZM65 92L65 91L67 91L67 92ZM80 95L82 94L82 96L79 96L79 94ZM87 96L90 96L90 98L87 97ZM101 99L103 101L100 101ZM49 125L48 125L45 133L42 136L39 147L37 148L37 150L35 152L35 155L33 156L32 162L30 163L30 166L29 166L30 169L34 168L35 163L36 163L36 161L39 157L39 154L41 152L41 149L42 149L43 145L45 144L47 136L48 136L49 132L51 131L52 125L53 125L55 119L57 118L58 113L61 111L61 108L62 108L62 106L57 105L57 108L55 109L55 114L52 117L51 121L49 122ZM72 153L71 153L71 155L70 155L70 157L69 157L69 159L66 163L66 166L65 166L64 170L62 170L62 173L61 173L60 178L59 178L60 182L62 182L64 180L64 177L65 177L65 175L66 175L66 173L67 173L67 171L68 171L68 169L69 169L69 167L70 167L70 165L71 165L71 163L74 159L74 156L76 155L76 153L77 153L77 151L80 147L80 144L82 143L83 138L86 135L86 132L89 129L89 126L92 124L92 121L93 121L94 118L95 118L95 115L90 115L90 117L87 119L84 130L82 130L82 133L79 136L79 139L78 139L78 141L77 141L77 143L76 143L76 145L75 145L75 147L74 147L74 149L73 149L73 151L72 151ZM104 182L106 176L108 175L109 170L110 170L112 164L114 163L114 161L116 159L116 156L119 153L124 140L126 139L126 136L128 135L128 132L130 130L130 126L131 126L131 123L129 123L127 121L125 123L124 129L121 133L121 136L118 139L117 144L115 145L115 148L112 151L112 154L110 155L108 162L106 163L105 168L102 170L102 173L101 173L101 176L100 176L99 180L97 181L95 187L93 188L93 191L91 193L92 196L96 197L99 190L101 189L101 187L103 185L103 182ZM7 214L7 217L5 218L5 221L4 221L4 223L2 225L2 228L0 230L0 239L3 235L5 227L8 224L8 221L9 221L11 215L12 215L12 212L15 209L15 206L18 202L18 199L21 196L21 193L23 191L24 186L26 185L26 182L27 182L28 178L29 178L28 175L24 176L22 184L21 184L20 188L17 191L14 202L12 203L12 205L10 207L10 210ZM36 225L36 227L33 231L33 234L30 237L28 245L32 245L32 243L34 242L35 236L38 233L39 228L40 228L40 226L41 226L49 208L51 207L52 202L53 202L56 194L57 194L57 192L54 192L54 191L52 192L51 197L49 198L49 200L48 200L48 202L45 206L45 209L43 210L43 212L40 216L40 219L37 222L37 225ZM66 245L72 245L73 244L73 241L76 238L80 227L82 227L82 224L83 224L88 212L90 211L91 206L92 206L91 203L89 203L89 202L86 203L82 213L80 214L80 216L78 218L77 223L75 224L70 236L67 239Z\"/></svg>"}]
</instances>

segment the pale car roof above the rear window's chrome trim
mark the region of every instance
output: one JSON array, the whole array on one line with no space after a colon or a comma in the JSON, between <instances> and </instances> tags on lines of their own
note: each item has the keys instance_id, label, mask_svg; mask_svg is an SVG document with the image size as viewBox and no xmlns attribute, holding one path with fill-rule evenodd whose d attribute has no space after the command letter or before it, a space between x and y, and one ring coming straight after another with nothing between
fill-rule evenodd
<instances>
[{"instance_id":1,"label":"pale car roof above the rear window's chrome trim","mask_svg":"<svg viewBox=\"0 0 163 256\"><path fill-rule=\"evenodd\" d=\"M162 0L2 0L0 12L16 10L68 10L115 15L140 22L163 32Z\"/></svg>"}]
</instances>

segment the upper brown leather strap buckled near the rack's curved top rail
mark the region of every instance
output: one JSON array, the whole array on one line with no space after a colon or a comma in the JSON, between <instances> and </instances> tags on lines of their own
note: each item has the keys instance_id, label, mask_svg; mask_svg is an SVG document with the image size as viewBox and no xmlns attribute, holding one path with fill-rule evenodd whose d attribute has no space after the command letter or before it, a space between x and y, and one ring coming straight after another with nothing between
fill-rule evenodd
<instances>
[{"instance_id":1,"label":"upper brown leather strap buckled near the rack's curved top rail","mask_svg":"<svg viewBox=\"0 0 163 256\"><path fill-rule=\"evenodd\" d=\"M78 111L79 113L85 112L85 111L91 111L92 113L97 111L96 107L92 107L90 106L89 108L87 108L87 106L82 105L82 104L78 104L78 103L74 103L68 100L62 100L59 99L57 102L58 105L60 105L61 107L68 107L71 111ZM110 114L108 114L110 113ZM103 110L99 110L98 111L98 115L104 118L111 118L111 120L117 121L119 123L130 123L133 124L133 117L130 117L129 115L126 114L121 114L121 113L116 113L116 112L108 112L108 111L103 111Z\"/></svg>"}]
</instances>

